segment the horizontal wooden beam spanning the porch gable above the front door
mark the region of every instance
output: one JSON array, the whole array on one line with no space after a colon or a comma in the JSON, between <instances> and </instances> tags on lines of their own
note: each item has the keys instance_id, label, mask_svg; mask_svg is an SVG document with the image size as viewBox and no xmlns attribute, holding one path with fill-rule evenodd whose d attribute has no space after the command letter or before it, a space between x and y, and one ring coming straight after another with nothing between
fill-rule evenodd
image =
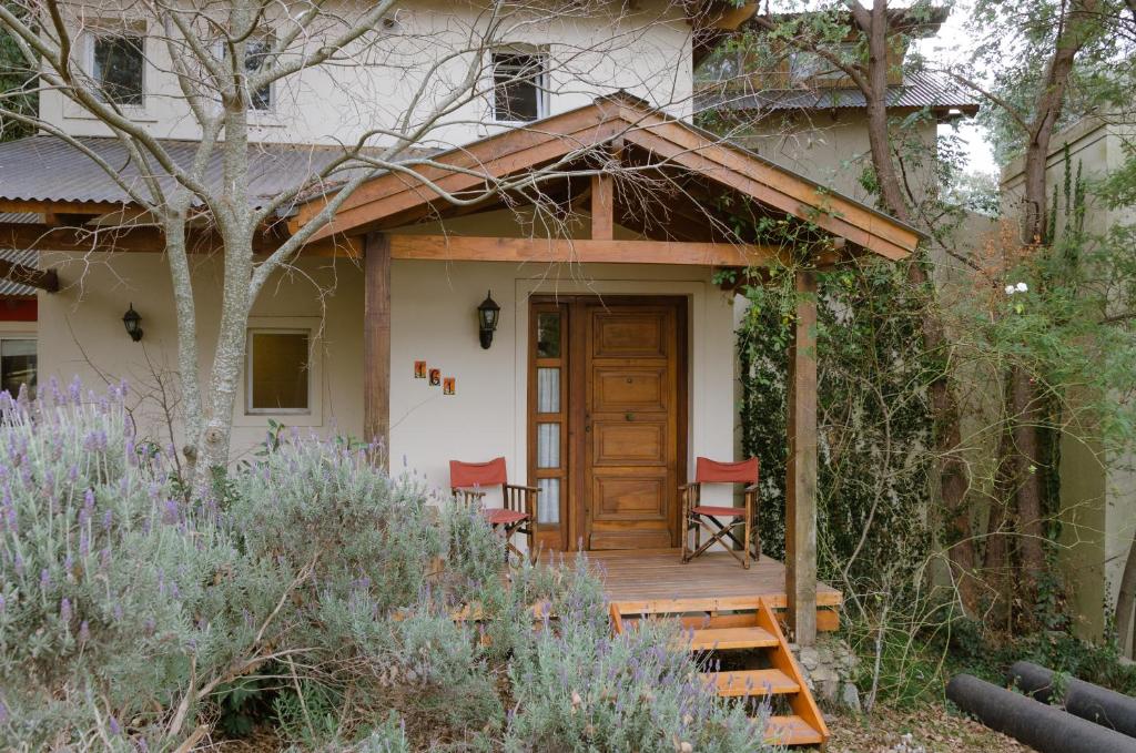
<instances>
[{"instance_id":1,"label":"horizontal wooden beam spanning the porch gable above the front door","mask_svg":"<svg viewBox=\"0 0 1136 753\"><path fill-rule=\"evenodd\" d=\"M437 261L668 263L716 267L768 266L777 246L670 241L569 241L563 239L392 235L391 258Z\"/></svg>"}]
</instances>

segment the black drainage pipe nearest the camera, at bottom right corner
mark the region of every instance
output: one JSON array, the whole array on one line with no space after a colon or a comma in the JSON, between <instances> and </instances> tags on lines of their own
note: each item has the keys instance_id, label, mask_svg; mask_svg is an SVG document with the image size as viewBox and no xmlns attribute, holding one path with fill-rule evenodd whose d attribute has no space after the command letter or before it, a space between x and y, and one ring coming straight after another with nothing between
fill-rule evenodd
<instances>
[{"instance_id":1,"label":"black drainage pipe nearest the camera, at bottom right corner","mask_svg":"<svg viewBox=\"0 0 1136 753\"><path fill-rule=\"evenodd\" d=\"M1041 753L1136 753L1131 737L972 675L955 675L946 685L946 697L991 729Z\"/></svg>"}]
</instances>

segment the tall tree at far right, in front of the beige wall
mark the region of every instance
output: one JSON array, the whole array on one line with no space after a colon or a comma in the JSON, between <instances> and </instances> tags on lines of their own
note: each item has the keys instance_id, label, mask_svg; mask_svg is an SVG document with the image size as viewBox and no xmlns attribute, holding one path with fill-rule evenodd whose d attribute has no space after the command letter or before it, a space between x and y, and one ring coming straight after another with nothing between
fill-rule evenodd
<instances>
[{"instance_id":1,"label":"tall tree at far right, in front of the beige wall","mask_svg":"<svg viewBox=\"0 0 1136 753\"><path fill-rule=\"evenodd\" d=\"M1001 140L1003 157L1014 151L1022 157L1020 203L1009 208L1019 217L1022 258L1051 251L1055 217L1050 209L1053 196L1047 167L1053 135L1066 123L1070 109L1084 114L1100 101L1102 90L1093 91L1092 78L1099 74L1100 64L1118 51L1110 22L1119 19L1121 8L1119 3L1110 7L1108 0L1060 0L1028 6L983 0L976 6L975 28L996 30L988 32L976 53L976 65L993 74L987 75L994 84L984 85L974 68L953 75L996 111L987 122L1001 125L1002 133L1010 136ZM1078 107L1070 108L1074 95L1079 99ZM1045 570L1042 469L1046 459L1042 457L1041 432L1049 419L1037 377L1021 362L1012 365L1005 376L1011 427L1001 444L1000 475L1003 487L1012 493L1014 509L1012 516L995 510L995 517L1017 521L1019 583L1026 596L1036 594ZM1055 441L1055 435L1051 441ZM987 547L986 569L1011 569L1005 561L1008 553L1004 542L994 542Z\"/></svg>"}]
</instances>

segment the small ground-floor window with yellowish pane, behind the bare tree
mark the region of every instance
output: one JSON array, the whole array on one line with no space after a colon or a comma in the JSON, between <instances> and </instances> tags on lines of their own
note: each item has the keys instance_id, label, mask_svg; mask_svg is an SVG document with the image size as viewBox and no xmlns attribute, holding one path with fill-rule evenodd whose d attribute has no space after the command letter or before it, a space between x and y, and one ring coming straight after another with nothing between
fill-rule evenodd
<instances>
[{"instance_id":1,"label":"small ground-floor window with yellowish pane, behind the bare tree","mask_svg":"<svg viewBox=\"0 0 1136 753\"><path fill-rule=\"evenodd\" d=\"M308 413L311 335L307 329L250 329L247 413Z\"/></svg>"}]
</instances>

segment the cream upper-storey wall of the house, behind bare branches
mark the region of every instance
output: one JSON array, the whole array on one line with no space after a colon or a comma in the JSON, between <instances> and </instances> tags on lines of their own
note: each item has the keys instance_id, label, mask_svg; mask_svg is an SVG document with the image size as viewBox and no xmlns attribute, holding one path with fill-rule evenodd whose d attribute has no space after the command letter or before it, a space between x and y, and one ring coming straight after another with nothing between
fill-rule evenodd
<instances>
[{"instance_id":1,"label":"cream upper-storey wall of the house, behind bare branches","mask_svg":"<svg viewBox=\"0 0 1136 753\"><path fill-rule=\"evenodd\" d=\"M336 8L339 5L339 8ZM538 6L533 6L536 8ZM358 14L354 6L333 3L328 12ZM109 10L84 6L87 25L114 18ZM78 12L78 9L76 9ZM130 11L127 11L128 14ZM122 11L118 14L122 16ZM692 62L691 27L677 3L645 0L634 8L607 3L590 9L540 15L515 12L493 32L494 43L528 44L550 56L550 111L562 112L590 102L595 95L624 89L676 115L688 111ZM393 16L395 26L357 52L360 65L321 66L279 82L273 111L251 115L252 141L337 144L353 142L373 128L394 128L419 91L425 97L414 108L410 124L420 124L436 102L463 86L469 60L482 52L458 53L484 44L486 17L476 3L426 0L407 3ZM152 24L152 19L150 22ZM119 26L122 22L119 20ZM476 31L471 31L476 30ZM333 30L334 31L334 30ZM157 30L150 33L158 34ZM331 36L332 31L326 36ZM307 42L310 49L324 37ZM85 49L89 35L78 47ZM170 139L197 139L199 131L178 92L165 43L151 37L145 53L147 99L128 114L151 133ZM427 72L438 66L428 80ZM487 60L486 60L487 64ZM492 90L492 75L478 83ZM40 97L43 117L73 135L106 135L108 131L77 106L50 89ZM478 98L445 115L418 147L463 144L500 131L491 125L487 98ZM383 143L375 137L371 143Z\"/></svg>"}]
</instances>

